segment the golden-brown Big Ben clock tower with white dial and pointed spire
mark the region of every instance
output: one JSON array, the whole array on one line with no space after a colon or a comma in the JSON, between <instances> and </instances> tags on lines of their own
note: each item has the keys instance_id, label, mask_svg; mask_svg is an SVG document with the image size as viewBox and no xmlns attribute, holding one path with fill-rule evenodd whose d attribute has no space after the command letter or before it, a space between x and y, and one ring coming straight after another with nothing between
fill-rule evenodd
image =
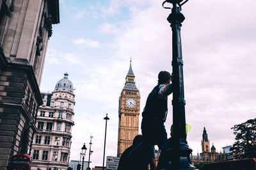
<instances>
[{"instance_id":1,"label":"golden-brown Big Ben clock tower with white dial and pointed spire","mask_svg":"<svg viewBox=\"0 0 256 170\"><path fill-rule=\"evenodd\" d=\"M132 145L132 141L139 133L140 91L135 85L135 76L130 67L125 78L124 89L119 97L118 109L118 146L117 156L120 157L124 150Z\"/></svg>"}]
</instances>

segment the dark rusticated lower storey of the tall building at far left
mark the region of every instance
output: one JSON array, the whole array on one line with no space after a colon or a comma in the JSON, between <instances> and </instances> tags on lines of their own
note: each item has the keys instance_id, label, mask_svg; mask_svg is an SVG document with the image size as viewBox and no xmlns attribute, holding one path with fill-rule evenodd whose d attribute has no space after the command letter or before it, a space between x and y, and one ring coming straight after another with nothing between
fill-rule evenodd
<instances>
[{"instance_id":1,"label":"dark rusticated lower storey of the tall building at far left","mask_svg":"<svg viewBox=\"0 0 256 170\"><path fill-rule=\"evenodd\" d=\"M30 153L36 110L42 99L31 66L8 64L0 73L0 169L10 158Z\"/></svg>"}]
</instances>

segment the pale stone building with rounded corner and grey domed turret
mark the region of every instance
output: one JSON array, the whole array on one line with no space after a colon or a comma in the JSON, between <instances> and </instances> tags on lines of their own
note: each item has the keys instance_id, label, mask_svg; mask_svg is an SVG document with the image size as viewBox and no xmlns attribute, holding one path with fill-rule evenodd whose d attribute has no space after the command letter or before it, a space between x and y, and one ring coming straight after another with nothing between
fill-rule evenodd
<instances>
[{"instance_id":1,"label":"pale stone building with rounded corner and grey domed turret","mask_svg":"<svg viewBox=\"0 0 256 170\"><path fill-rule=\"evenodd\" d=\"M41 96L44 104L37 112L31 169L64 170L68 168L75 105L68 74L56 83L53 92L42 92Z\"/></svg>"}]
</instances>

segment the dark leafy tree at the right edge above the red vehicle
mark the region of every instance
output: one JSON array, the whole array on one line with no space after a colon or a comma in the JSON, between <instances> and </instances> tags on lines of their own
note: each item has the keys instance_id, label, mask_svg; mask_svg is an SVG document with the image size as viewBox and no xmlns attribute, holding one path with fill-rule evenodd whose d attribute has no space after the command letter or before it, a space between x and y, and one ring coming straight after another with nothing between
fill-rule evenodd
<instances>
[{"instance_id":1,"label":"dark leafy tree at the right edge above the red vehicle","mask_svg":"<svg viewBox=\"0 0 256 170\"><path fill-rule=\"evenodd\" d=\"M235 159L256 157L256 118L234 125L235 143L232 146Z\"/></svg>"}]
</instances>

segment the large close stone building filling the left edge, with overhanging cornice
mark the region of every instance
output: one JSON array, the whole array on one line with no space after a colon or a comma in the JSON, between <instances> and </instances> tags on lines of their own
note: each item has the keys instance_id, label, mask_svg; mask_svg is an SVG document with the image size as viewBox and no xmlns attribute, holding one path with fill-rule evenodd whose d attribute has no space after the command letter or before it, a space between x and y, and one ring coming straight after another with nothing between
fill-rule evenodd
<instances>
[{"instance_id":1,"label":"large close stone building filling the left edge, with overhanging cornice","mask_svg":"<svg viewBox=\"0 0 256 170\"><path fill-rule=\"evenodd\" d=\"M58 0L0 0L0 169L30 153L40 85Z\"/></svg>"}]
</instances>

